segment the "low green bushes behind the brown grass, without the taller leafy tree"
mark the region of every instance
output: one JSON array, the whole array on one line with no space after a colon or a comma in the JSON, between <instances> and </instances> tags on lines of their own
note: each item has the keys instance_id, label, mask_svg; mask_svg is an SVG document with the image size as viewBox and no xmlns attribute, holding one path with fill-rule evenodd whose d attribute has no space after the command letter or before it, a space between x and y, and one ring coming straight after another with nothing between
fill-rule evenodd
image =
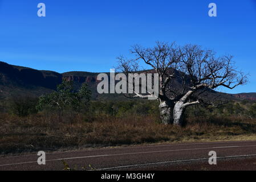
<instances>
[{"instance_id":1,"label":"low green bushes behind the brown grass, without the taller leafy tree","mask_svg":"<svg viewBox=\"0 0 256 182\"><path fill-rule=\"evenodd\" d=\"M42 112L36 109L39 98L19 97L13 98L5 103L1 112L26 117L27 115ZM153 115L159 117L158 102L148 100L127 100L127 101L90 101L82 110L74 108L63 108L63 112L76 112L84 114L87 121L94 121L96 118L115 117L122 118L128 115ZM3 107L3 106L2 106ZM58 110L45 107L43 111L58 113ZM253 101L229 101L219 106L191 106L186 110L185 117L206 117L206 116L237 116L256 118L256 102Z\"/></svg>"}]
</instances>

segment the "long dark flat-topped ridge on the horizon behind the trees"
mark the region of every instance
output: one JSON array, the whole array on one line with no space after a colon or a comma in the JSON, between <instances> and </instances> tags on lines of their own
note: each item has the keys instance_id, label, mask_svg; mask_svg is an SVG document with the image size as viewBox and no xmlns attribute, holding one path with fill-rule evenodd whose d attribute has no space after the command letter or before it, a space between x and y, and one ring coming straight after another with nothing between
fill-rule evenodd
<instances>
[{"instance_id":1,"label":"long dark flat-topped ridge on the horizon behind the trees","mask_svg":"<svg viewBox=\"0 0 256 182\"><path fill-rule=\"evenodd\" d=\"M96 77L99 73L92 72L66 72L39 71L32 68L10 65L0 61L0 99L11 97L31 96L38 97L50 93L56 89L63 79L74 81L75 88L79 88L83 82L87 82L92 90L94 100L125 100L121 94L98 94ZM180 86L178 82L174 86ZM217 96L219 93L209 90L207 97ZM256 101L256 93L227 94L222 93L226 100L253 100Z\"/></svg>"}]
</instances>

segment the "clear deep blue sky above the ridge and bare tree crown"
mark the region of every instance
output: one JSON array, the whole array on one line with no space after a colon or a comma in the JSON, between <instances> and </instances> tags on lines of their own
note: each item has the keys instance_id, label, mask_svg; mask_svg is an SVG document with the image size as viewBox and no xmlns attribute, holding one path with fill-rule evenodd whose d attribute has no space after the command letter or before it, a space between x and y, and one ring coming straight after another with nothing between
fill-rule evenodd
<instances>
[{"instance_id":1,"label":"clear deep blue sky above the ridge and bare tree crown","mask_svg":"<svg viewBox=\"0 0 256 182\"><path fill-rule=\"evenodd\" d=\"M37 5L46 4L46 17ZM217 17L208 5L217 4ZM199 44L234 55L256 92L256 0L0 0L0 60L56 72L107 72L133 44Z\"/></svg>"}]
</instances>

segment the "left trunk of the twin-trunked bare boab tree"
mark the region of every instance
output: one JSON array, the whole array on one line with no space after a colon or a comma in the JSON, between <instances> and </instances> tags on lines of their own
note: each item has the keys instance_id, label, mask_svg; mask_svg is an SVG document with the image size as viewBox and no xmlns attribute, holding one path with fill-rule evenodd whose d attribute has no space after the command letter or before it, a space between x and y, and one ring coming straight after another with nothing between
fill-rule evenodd
<instances>
[{"instance_id":1,"label":"left trunk of the twin-trunked bare boab tree","mask_svg":"<svg viewBox=\"0 0 256 182\"><path fill-rule=\"evenodd\" d=\"M173 123L173 107L166 104L166 102L160 102L159 105L161 122L164 125Z\"/></svg>"}]
</instances>

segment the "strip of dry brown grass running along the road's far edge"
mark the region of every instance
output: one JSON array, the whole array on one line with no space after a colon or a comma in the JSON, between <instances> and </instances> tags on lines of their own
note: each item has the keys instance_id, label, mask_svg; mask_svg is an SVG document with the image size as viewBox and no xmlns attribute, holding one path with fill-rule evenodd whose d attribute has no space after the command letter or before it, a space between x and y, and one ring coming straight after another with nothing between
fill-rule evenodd
<instances>
[{"instance_id":1,"label":"strip of dry brown grass running along the road's far edge","mask_svg":"<svg viewBox=\"0 0 256 182\"><path fill-rule=\"evenodd\" d=\"M35 114L26 118L0 115L0 153L70 150L159 142L256 139L256 119L193 118L186 127L163 126L152 116L111 118L101 115L86 122L79 114Z\"/></svg>"}]
</instances>

